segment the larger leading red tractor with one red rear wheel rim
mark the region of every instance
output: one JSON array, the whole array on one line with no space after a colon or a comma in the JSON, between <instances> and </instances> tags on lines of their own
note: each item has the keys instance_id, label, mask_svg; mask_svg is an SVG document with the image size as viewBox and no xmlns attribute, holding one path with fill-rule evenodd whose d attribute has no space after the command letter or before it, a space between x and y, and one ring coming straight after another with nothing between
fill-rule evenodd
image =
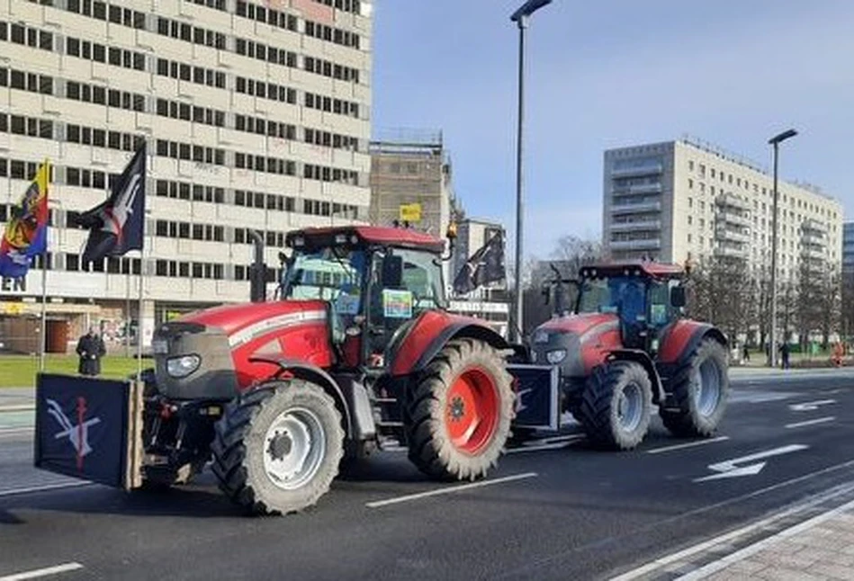
<instances>
[{"instance_id":1,"label":"larger leading red tractor with one red rear wheel rim","mask_svg":"<svg viewBox=\"0 0 854 581\"><path fill-rule=\"evenodd\" d=\"M286 245L278 299L264 300L256 240L253 302L157 326L143 482L185 482L211 462L238 505L286 514L314 505L343 459L389 444L407 446L430 478L486 475L514 416L511 350L481 321L446 312L445 242L356 226L294 231Z\"/></svg>"}]
</instances>

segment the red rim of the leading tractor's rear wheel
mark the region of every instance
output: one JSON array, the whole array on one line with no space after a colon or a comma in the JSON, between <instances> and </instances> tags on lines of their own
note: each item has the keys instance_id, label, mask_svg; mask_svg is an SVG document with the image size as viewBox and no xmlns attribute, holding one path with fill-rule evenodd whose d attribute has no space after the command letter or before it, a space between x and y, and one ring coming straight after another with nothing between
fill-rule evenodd
<instances>
[{"instance_id":1,"label":"red rim of the leading tractor's rear wheel","mask_svg":"<svg viewBox=\"0 0 854 581\"><path fill-rule=\"evenodd\" d=\"M463 371L448 390L445 425L457 450L474 454L495 434L499 418L498 390L490 374L480 369Z\"/></svg>"}]
</instances>

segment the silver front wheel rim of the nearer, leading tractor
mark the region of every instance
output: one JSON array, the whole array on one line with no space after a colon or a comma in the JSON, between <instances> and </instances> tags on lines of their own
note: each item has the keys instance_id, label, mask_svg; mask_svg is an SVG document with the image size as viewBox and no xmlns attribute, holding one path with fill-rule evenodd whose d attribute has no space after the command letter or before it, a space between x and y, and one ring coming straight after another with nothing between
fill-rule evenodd
<instances>
[{"instance_id":1,"label":"silver front wheel rim of the nearer, leading tractor","mask_svg":"<svg viewBox=\"0 0 854 581\"><path fill-rule=\"evenodd\" d=\"M293 407L277 416L264 437L264 470L279 488L303 487L326 456L326 432L318 416Z\"/></svg>"}]
</instances>

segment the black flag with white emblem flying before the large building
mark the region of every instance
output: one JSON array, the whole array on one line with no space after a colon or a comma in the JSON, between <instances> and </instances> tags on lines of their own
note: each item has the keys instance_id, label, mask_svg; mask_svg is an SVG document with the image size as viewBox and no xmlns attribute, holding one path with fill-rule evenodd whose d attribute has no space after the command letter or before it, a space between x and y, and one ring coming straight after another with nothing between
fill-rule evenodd
<instances>
[{"instance_id":1,"label":"black flag with white emblem flying before the large building","mask_svg":"<svg viewBox=\"0 0 854 581\"><path fill-rule=\"evenodd\" d=\"M139 147L121 175L112 184L107 201L83 212L76 220L88 228L83 264L104 256L121 256L142 249L145 221L146 145Z\"/></svg>"}]
</instances>

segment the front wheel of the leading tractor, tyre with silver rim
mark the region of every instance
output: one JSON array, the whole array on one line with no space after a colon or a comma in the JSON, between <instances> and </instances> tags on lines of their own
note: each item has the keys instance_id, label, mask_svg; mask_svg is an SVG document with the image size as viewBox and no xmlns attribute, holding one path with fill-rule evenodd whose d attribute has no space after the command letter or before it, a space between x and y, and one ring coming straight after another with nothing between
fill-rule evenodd
<instances>
[{"instance_id":1,"label":"front wheel of the leading tractor, tyre with silver rim","mask_svg":"<svg viewBox=\"0 0 854 581\"><path fill-rule=\"evenodd\" d=\"M285 421L290 427L284 425L281 432L276 427L271 435L273 426ZM220 490L249 513L297 512L328 492L344 455L344 437L335 400L322 388L304 380L275 382L241 395L226 408L215 425L211 469ZM300 486L288 487L288 477L281 478L280 472L277 484L265 462L294 460L292 454L301 450L300 466L310 462L305 481L297 474Z\"/></svg>"}]
</instances>

